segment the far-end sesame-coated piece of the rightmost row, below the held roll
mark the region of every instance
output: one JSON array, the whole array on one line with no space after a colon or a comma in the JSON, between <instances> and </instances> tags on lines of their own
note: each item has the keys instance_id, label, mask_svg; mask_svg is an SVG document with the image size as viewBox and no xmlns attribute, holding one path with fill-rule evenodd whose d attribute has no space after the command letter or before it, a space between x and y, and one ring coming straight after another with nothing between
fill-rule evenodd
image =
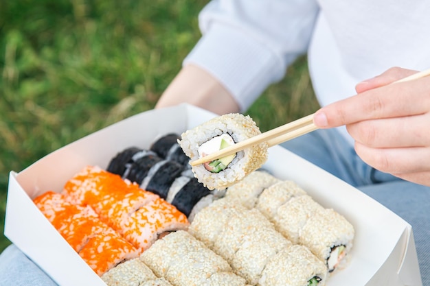
<instances>
[{"instance_id":1,"label":"far-end sesame-coated piece of the rightmost row, below the held roll","mask_svg":"<svg viewBox=\"0 0 430 286\"><path fill-rule=\"evenodd\" d=\"M275 178L267 171L256 170L240 182L228 187L225 196L229 200L238 200L247 208L253 208L262 191L277 182L280 182L280 179Z\"/></svg>"}]
</instances>

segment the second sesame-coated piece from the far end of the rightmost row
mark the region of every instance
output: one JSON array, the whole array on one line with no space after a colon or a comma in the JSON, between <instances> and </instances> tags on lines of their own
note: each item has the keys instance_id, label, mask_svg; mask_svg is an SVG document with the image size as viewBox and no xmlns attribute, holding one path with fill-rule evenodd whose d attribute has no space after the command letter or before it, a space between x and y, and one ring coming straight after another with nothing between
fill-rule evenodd
<instances>
[{"instance_id":1,"label":"second sesame-coated piece from the far end of the rightmost row","mask_svg":"<svg viewBox=\"0 0 430 286\"><path fill-rule=\"evenodd\" d=\"M295 182L284 180L277 182L271 187L264 189L258 197L256 208L263 213L271 222L275 222L278 208L293 197L306 195L306 191Z\"/></svg>"}]
</instances>

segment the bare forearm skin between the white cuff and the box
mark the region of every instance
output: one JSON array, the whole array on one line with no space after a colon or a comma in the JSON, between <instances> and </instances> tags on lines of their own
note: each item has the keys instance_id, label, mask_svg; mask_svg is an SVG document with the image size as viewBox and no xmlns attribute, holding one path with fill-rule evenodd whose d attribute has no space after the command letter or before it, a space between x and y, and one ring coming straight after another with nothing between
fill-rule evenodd
<instances>
[{"instance_id":1,"label":"bare forearm skin between the white cuff and the box","mask_svg":"<svg viewBox=\"0 0 430 286\"><path fill-rule=\"evenodd\" d=\"M210 73L188 64L161 95L155 108L188 103L222 115L238 112L239 106L227 89Z\"/></svg>"}]
</instances>

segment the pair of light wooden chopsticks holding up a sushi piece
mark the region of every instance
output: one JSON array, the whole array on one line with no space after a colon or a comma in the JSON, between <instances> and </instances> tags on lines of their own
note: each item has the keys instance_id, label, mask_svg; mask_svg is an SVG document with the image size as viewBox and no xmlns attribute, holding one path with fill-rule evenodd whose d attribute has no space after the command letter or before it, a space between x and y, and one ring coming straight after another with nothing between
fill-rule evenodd
<instances>
[{"instance_id":1,"label":"pair of light wooden chopsticks holding up a sushi piece","mask_svg":"<svg viewBox=\"0 0 430 286\"><path fill-rule=\"evenodd\" d=\"M417 80L419 78L424 78L428 75L430 75L430 69L427 69L425 71L420 71L419 73L414 73L413 75L409 75L406 78L397 80L396 82L392 82L392 84L396 84L398 82L409 82L410 80ZM253 145L257 145L262 142L267 142L268 146L272 147L274 145L278 145L288 140L297 138L298 136L302 136L306 133L309 133L318 129L317 126L315 126L315 124L313 123L313 115L314 114L308 115L306 117L302 117L300 119L297 119L290 123L286 123L282 126L274 128L272 130L269 130L257 136L253 136L244 141L240 141L222 150L219 150L217 152L214 152L212 154L209 154L207 156L194 160L190 162L190 164L192 166L196 166L203 163L207 163L212 160L223 158L225 156L229 156L231 154L237 153L239 151L246 149L247 147L251 147Z\"/></svg>"}]
</instances>

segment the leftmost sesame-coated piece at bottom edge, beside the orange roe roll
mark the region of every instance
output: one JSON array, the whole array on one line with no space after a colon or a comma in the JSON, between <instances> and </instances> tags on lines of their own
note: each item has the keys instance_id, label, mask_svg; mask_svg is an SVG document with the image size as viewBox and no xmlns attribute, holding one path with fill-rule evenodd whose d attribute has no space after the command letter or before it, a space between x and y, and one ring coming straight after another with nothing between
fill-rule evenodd
<instances>
[{"instance_id":1,"label":"leftmost sesame-coated piece at bottom edge, beside the orange roe roll","mask_svg":"<svg viewBox=\"0 0 430 286\"><path fill-rule=\"evenodd\" d=\"M163 282L160 282L160 279ZM102 275L108 286L171 285L164 278L157 278L154 272L139 258L125 261ZM159 284L148 284L148 283Z\"/></svg>"}]
</instances>

